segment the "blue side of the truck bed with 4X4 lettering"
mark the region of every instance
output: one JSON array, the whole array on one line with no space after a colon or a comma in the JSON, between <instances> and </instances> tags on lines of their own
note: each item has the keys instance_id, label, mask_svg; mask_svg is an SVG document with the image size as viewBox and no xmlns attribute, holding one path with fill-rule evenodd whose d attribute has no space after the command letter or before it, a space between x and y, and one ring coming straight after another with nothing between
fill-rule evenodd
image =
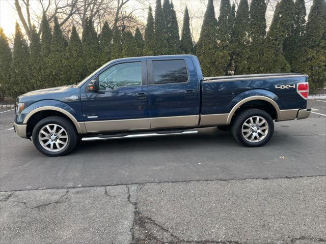
<instances>
[{"instance_id":1,"label":"blue side of the truck bed with 4X4 lettering","mask_svg":"<svg viewBox=\"0 0 326 244\"><path fill-rule=\"evenodd\" d=\"M201 114L227 114L242 99L264 96L277 102L281 110L307 107L307 100L296 92L302 74L256 74L205 77L201 83Z\"/></svg>"}]
</instances>

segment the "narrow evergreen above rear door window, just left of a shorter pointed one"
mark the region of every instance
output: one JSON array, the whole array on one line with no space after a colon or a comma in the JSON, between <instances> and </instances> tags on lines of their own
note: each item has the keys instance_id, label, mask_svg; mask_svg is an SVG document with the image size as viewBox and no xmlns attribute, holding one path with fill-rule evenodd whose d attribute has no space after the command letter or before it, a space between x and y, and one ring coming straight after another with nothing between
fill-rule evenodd
<instances>
[{"instance_id":1,"label":"narrow evergreen above rear door window, just left of a shorter pointed one","mask_svg":"<svg viewBox=\"0 0 326 244\"><path fill-rule=\"evenodd\" d=\"M172 1L169 5L168 16L166 17L166 19L169 19L167 25L168 54L180 54L179 27Z\"/></svg>"}]
</instances>

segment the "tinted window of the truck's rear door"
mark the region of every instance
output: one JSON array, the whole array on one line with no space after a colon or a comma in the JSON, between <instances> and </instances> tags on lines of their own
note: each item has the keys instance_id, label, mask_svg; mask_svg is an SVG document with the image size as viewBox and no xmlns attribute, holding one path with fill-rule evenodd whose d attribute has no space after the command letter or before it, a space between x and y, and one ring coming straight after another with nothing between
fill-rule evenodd
<instances>
[{"instance_id":1,"label":"tinted window of the truck's rear door","mask_svg":"<svg viewBox=\"0 0 326 244\"><path fill-rule=\"evenodd\" d=\"M188 81L183 59L153 61L154 84L183 83Z\"/></svg>"}]
</instances>

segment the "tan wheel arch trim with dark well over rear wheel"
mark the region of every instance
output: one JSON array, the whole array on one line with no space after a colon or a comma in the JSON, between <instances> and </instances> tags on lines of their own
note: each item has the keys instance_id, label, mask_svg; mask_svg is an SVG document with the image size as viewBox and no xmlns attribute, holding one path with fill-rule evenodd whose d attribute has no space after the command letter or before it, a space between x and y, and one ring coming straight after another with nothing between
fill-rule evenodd
<instances>
[{"instance_id":1,"label":"tan wheel arch trim with dark well over rear wheel","mask_svg":"<svg viewBox=\"0 0 326 244\"><path fill-rule=\"evenodd\" d=\"M241 101L239 101L237 104L235 104L233 106L233 108L231 109L228 118L227 118L227 125L231 124L233 115L241 108L243 108L244 106L248 106L251 103L253 103L254 101L263 101L264 104L267 104L268 106L270 106L271 108L273 108L274 113L275 113L275 119L278 119L280 117L280 107L279 105L271 98L268 98L266 96L251 96L248 98L244 98ZM255 107L254 105L252 105L253 107ZM259 108L259 105L256 106L256 108ZM273 117L273 116L272 116Z\"/></svg>"}]
</instances>

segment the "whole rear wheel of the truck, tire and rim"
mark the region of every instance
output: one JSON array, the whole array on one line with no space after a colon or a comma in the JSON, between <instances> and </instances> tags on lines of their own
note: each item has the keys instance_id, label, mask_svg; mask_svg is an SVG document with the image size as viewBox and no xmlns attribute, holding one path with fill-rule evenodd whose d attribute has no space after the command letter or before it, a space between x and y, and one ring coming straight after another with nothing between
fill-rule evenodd
<instances>
[{"instance_id":1,"label":"whole rear wheel of the truck, tire and rim","mask_svg":"<svg viewBox=\"0 0 326 244\"><path fill-rule=\"evenodd\" d=\"M245 146L266 144L274 133L274 122L268 113L260 109L247 109L234 118L233 137Z\"/></svg>"}]
</instances>

